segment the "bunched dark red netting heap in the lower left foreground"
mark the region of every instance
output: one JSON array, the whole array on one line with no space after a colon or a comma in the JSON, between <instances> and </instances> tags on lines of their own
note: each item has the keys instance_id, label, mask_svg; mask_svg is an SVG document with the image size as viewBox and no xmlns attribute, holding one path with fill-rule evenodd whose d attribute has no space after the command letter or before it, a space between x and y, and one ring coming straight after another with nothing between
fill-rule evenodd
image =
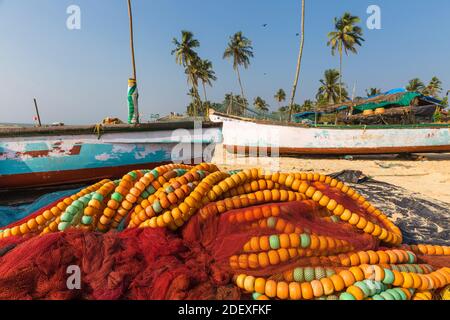
<instances>
[{"instance_id":1,"label":"bunched dark red netting heap in the lower left foreground","mask_svg":"<svg viewBox=\"0 0 450 320\"><path fill-rule=\"evenodd\" d=\"M209 257L165 229L108 234L69 231L29 240L0 258L1 299L226 299L239 298L229 279L211 276ZM81 289L67 286L71 265ZM216 281L218 280L218 281Z\"/></svg>"}]
</instances>

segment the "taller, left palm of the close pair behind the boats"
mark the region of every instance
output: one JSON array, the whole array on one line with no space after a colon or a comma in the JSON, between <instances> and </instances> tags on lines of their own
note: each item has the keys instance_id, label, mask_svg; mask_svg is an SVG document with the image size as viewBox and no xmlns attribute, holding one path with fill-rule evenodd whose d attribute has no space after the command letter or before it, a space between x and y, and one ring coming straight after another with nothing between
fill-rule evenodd
<instances>
[{"instance_id":1,"label":"taller, left palm of the close pair behind the boats","mask_svg":"<svg viewBox=\"0 0 450 320\"><path fill-rule=\"evenodd\" d=\"M188 75L188 82L192 84L194 91L192 98L194 101L197 100L196 103L199 103L200 99L197 90L198 78L195 78L193 72L198 69L199 60L199 57L194 49L200 46L200 42L194 38L194 34L192 32L182 30L181 41L178 41L177 38L173 38L172 43L175 45L175 49L172 50L172 55L175 55L176 63L185 68L185 73Z\"/></svg>"}]
</instances>

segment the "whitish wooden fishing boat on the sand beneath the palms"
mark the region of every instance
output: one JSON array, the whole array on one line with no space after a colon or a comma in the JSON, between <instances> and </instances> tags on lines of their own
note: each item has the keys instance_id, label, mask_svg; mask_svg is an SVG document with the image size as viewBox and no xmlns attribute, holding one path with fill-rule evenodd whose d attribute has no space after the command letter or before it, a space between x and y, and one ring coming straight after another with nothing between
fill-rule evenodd
<instances>
[{"instance_id":1,"label":"whitish wooden fishing boat on the sand beneath the palms","mask_svg":"<svg viewBox=\"0 0 450 320\"><path fill-rule=\"evenodd\" d=\"M224 147L232 153L366 155L450 152L450 124L307 126L260 121L210 110L223 123Z\"/></svg>"}]
</instances>

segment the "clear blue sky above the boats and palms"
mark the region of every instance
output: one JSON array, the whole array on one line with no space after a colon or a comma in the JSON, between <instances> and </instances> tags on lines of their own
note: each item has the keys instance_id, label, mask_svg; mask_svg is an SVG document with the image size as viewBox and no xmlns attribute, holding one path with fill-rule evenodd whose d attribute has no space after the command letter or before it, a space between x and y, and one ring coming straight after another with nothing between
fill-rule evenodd
<instances>
[{"instance_id":1,"label":"clear blue sky above the boats and palms","mask_svg":"<svg viewBox=\"0 0 450 320\"><path fill-rule=\"evenodd\" d=\"M81 30L66 28L66 8L81 7ZM382 10L382 30L368 30L366 9ZM183 70L170 55L173 37L191 30L218 76L213 101L239 92L222 54L242 30L255 58L242 72L247 96L276 109L278 88L290 92L298 54L300 0L134 0L136 60L144 120L151 113L184 112L189 102ZM368 87L402 87L438 76L450 89L450 1L307 0L306 40L298 102L314 98L325 69L338 57L326 46L333 18L350 11L363 19L366 42L344 59L344 81L357 95ZM267 23L266 28L262 24ZM37 97L44 122L95 123L126 119L131 75L126 0L0 0L0 122L31 122Z\"/></svg>"}]
</instances>

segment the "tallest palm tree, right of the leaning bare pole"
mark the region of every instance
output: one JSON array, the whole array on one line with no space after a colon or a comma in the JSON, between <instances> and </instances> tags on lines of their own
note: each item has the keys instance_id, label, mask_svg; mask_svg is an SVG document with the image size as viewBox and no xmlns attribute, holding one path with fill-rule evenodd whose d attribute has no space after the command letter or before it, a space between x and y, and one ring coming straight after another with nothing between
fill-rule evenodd
<instances>
[{"instance_id":1,"label":"tallest palm tree, right of the leaning bare pole","mask_svg":"<svg viewBox=\"0 0 450 320\"><path fill-rule=\"evenodd\" d=\"M339 102L342 102L342 56L348 56L349 52L358 53L356 46L361 46L364 38L362 29L356 24L361 19L346 12L341 18L334 18L334 31L328 33L328 46L331 46L331 54L339 52Z\"/></svg>"}]
</instances>

